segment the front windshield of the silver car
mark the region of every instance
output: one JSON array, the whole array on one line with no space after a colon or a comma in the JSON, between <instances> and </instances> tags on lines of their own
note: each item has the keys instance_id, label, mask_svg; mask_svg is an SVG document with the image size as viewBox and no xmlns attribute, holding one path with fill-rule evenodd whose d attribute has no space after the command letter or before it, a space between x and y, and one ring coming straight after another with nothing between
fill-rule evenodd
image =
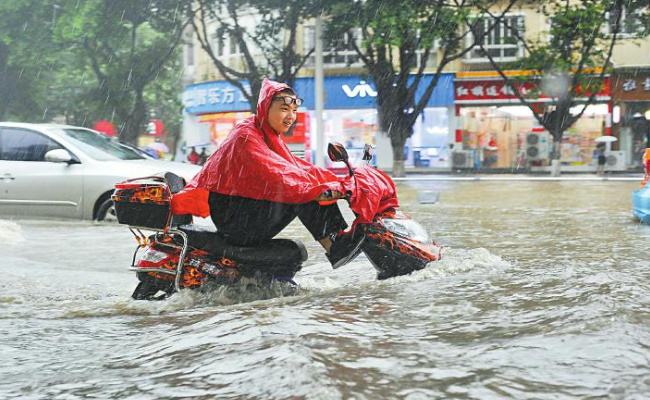
<instances>
[{"instance_id":1,"label":"front windshield of the silver car","mask_svg":"<svg viewBox=\"0 0 650 400\"><path fill-rule=\"evenodd\" d=\"M99 132L75 128L58 128L57 130L64 133L65 138L86 155L98 161L142 160L146 158L138 150Z\"/></svg>"}]
</instances>

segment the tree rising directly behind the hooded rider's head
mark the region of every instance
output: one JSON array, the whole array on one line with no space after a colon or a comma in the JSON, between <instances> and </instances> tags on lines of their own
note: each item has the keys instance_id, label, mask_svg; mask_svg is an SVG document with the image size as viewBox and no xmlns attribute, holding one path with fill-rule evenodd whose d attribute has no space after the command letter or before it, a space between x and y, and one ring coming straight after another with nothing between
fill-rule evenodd
<instances>
[{"instance_id":1,"label":"tree rising directly behind the hooded rider's head","mask_svg":"<svg viewBox=\"0 0 650 400\"><path fill-rule=\"evenodd\" d=\"M192 25L219 74L242 92L254 112L265 77L293 85L313 52L296 48L298 28L320 7L300 0L197 0ZM242 65L224 59L221 49L226 45L239 54Z\"/></svg>"}]
</instances>

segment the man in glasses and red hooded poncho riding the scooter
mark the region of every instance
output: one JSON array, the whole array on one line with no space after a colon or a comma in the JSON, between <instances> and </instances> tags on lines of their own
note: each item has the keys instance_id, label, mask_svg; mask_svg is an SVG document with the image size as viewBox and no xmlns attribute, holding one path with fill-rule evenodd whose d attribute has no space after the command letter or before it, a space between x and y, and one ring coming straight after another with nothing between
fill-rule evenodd
<instances>
[{"instance_id":1,"label":"man in glasses and red hooded poncho riding the scooter","mask_svg":"<svg viewBox=\"0 0 650 400\"><path fill-rule=\"evenodd\" d=\"M343 198L343 179L295 157L282 141L301 103L288 85L265 79L257 114L235 126L174 196L172 210L210 215L217 231L240 246L268 241L298 217L338 268L358 254L364 237L344 232L337 204L318 203Z\"/></svg>"}]
</instances>

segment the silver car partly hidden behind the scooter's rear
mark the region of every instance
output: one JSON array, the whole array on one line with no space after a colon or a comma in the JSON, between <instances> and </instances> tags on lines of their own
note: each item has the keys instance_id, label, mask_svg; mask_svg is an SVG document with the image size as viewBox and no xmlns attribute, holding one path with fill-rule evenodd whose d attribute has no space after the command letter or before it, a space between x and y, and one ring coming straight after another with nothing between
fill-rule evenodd
<instances>
[{"instance_id":1,"label":"silver car partly hidden behind the scooter's rear","mask_svg":"<svg viewBox=\"0 0 650 400\"><path fill-rule=\"evenodd\" d=\"M0 123L0 216L104 220L117 182L199 166L154 160L135 147L76 126Z\"/></svg>"}]
</instances>

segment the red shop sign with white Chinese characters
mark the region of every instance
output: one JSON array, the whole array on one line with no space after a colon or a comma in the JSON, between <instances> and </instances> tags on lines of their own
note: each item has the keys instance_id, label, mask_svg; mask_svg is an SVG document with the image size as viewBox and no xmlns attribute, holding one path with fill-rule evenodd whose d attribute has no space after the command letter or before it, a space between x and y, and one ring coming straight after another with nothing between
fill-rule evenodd
<instances>
[{"instance_id":1,"label":"red shop sign with white Chinese characters","mask_svg":"<svg viewBox=\"0 0 650 400\"><path fill-rule=\"evenodd\" d=\"M510 103L519 101L513 90L502 79L454 81L456 103ZM537 87L535 82L516 83L515 87L524 97L531 95ZM603 89L596 94L598 100L608 100L610 96L609 77L605 78ZM550 100L542 94L540 100Z\"/></svg>"}]
</instances>

